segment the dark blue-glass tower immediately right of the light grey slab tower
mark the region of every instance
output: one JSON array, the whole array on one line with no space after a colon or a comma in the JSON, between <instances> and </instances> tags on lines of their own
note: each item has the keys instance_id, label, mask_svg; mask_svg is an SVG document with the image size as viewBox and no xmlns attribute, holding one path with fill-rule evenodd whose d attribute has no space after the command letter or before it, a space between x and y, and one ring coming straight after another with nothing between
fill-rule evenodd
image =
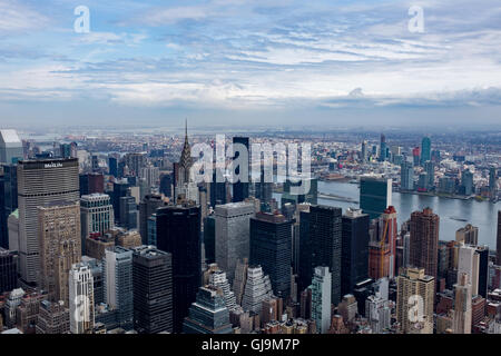
<instances>
[{"instance_id":1,"label":"dark blue-glass tower immediately right of the light grey slab tower","mask_svg":"<svg viewBox=\"0 0 501 356\"><path fill-rule=\"evenodd\" d=\"M257 212L250 218L250 265L261 265L276 296L291 295L292 222L283 215Z\"/></svg>"}]
</instances>

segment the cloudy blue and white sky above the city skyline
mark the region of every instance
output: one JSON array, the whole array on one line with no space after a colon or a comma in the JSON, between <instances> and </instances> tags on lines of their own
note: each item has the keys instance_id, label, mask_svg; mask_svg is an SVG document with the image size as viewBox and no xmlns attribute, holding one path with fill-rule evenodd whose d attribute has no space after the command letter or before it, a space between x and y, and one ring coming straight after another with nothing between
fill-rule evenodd
<instances>
[{"instance_id":1,"label":"cloudy blue and white sky above the city skyline","mask_svg":"<svg viewBox=\"0 0 501 356\"><path fill-rule=\"evenodd\" d=\"M0 0L0 126L493 126L500 61L499 0Z\"/></svg>"}]
</instances>

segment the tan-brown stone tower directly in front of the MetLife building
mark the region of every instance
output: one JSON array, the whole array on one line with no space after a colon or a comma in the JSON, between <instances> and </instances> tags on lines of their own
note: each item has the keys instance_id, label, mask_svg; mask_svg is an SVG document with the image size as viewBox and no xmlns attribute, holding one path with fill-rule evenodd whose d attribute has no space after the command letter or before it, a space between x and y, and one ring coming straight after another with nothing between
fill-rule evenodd
<instances>
[{"instance_id":1,"label":"tan-brown stone tower directly in front of the MetLife building","mask_svg":"<svg viewBox=\"0 0 501 356\"><path fill-rule=\"evenodd\" d=\"M81 258L80 205L78 201L51 202L38 207L40 243L39 286L49 300L69 303L69 271Z\"/></svg>"}]
</instances>

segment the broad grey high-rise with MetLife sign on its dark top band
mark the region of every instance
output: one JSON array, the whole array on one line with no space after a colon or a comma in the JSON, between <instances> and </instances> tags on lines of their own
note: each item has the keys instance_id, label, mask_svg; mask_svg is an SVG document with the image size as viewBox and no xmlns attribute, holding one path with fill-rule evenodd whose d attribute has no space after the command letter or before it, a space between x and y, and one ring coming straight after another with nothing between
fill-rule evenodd
<instances>
[{"instance_id":1,"label":"broad grey high-rise with MetLife sign on its dark top band","mask_svg":"<svg viewBox=\"0 0 501 356\"><path fill-rule=\"evenodd\" d=\"M19 257L24 283L37 283L40 266L37 208L53 201L78 201L79 198L77 158L19 162Z\"/></svg>"}]
</instances>

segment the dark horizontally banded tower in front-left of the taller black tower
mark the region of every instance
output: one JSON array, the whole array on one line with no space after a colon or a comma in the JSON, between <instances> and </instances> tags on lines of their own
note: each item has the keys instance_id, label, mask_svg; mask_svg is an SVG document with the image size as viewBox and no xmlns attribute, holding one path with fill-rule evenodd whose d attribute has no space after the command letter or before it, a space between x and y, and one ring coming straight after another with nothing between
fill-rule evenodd
<instances>
[{"instance_id":1,"label":"dark horizontally banded tower in front-left of the taller black tower","mask_svg":"<svg viewBox=\"0 0 501 356\"><path fill-rule=\"evenodd\" d=\"M132 249L134 328L173 333L173 256L154 246Z\"/></svg>"}]
</instances>

